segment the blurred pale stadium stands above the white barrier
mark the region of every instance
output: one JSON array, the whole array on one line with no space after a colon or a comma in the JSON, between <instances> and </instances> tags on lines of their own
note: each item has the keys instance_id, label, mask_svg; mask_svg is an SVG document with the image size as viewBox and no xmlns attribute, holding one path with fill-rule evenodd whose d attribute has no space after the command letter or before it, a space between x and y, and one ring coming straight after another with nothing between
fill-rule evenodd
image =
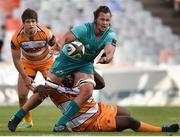
<instances>
[{"instance_id":1,"label":"blurred pale stadium stands above the white barrier","mask_svg":"<svg viewBox=\"0 0 180 137\"><path fill-rule=\"evenodd\" d=\"M1 62L11 62L10 38L21 25L25 8L39 14L39 23L56 36L93 20L93 11L107 5L118 35L115 65L177 65L180 63L179 0L0 0ZM168 24L169 23L169 24Z\"/></svg>"}]
</instances>

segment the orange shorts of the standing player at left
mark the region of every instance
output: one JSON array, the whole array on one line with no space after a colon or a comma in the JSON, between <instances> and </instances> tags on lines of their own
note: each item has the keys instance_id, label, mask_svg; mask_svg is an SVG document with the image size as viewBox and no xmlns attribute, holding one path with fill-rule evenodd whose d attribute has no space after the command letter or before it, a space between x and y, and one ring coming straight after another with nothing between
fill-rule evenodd
<instances>
[{"instance_id":1,"label":"orange shorts of the standing player at left","mask_svg":"<svg viewBox=\"0 0 180 137\"><path fill-rule=\"evenodd\" d=\"M36 76L36 73L39 71L43 77L48 76L48 71L53 64L53 57L43 61L43 62L31 62L26 59L22 59L22 63L25 69L25 72L28 76Z\"/></svg>"}]
</instances>

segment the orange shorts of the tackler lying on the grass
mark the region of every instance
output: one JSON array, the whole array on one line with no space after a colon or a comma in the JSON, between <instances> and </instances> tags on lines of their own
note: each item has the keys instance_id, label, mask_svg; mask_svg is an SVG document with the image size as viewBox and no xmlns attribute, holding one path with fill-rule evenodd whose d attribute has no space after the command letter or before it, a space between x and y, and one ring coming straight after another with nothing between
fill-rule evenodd
<instances>
[{"instance_id":1,"label":"orange shorts of the tackler lying on the grass","mask_svg":"<svg viewBox=\"0 0 180 137\"><path fill-rule=\"evenodd\" d=\"M93 121L85 131L116 131L117 105L99 103L100 115ZM83 125L82 125L83 126Z\"/></svg>"}]
</instances>

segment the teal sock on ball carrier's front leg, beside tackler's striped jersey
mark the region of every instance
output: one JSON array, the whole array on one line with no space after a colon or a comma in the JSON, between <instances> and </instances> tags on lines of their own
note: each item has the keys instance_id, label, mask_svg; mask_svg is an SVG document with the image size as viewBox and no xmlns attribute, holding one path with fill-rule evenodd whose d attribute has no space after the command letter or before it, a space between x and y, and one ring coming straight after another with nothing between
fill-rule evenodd
<instances>
[{"instance_id":1,"label":"teal sock on ball carrier's front leg, beside tackler's striped jersey","mask_svg":"<svg viewBox=\"0 0 180 137\"><path fill-rule=\"evenodd\" d=\"M71 120L71 118L79 112L81 107L74 101L71 101L67 107L67 109L64 111L63 116L58 120L56 123L56 126L58 125L66 125L66 123Z\"/></svg>"}]
</instances>

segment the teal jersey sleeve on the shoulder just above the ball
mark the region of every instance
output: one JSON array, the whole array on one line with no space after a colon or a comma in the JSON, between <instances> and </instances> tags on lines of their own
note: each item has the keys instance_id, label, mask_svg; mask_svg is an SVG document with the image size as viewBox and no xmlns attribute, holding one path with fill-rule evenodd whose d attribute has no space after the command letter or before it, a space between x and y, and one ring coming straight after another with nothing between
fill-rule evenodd
<instances>
[{"instance_id":1,"label":"teal jersey sleeve on the shoulder just above the ball","mask_svg":"<svg viewBox=\"0 0 180 137\"><path fill-rule=\"evenodd\" d=\"M85 24L76 26L71 29L71 32L74 34L74 36L79 40L87 35L87 27Z\"/></svg>"}]
</instances>

